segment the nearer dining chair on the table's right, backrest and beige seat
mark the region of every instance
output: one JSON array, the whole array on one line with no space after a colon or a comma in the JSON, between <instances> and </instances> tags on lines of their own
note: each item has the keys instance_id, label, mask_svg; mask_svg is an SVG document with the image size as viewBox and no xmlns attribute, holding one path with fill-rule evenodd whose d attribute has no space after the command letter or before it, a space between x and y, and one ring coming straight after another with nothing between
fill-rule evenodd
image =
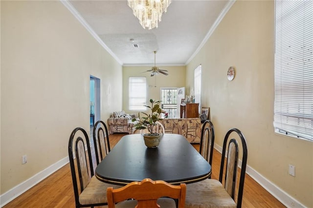
<instances>
[{"instance_id":1,"label":"nearer dining chair on the table's right, backrest and beige seat","mask_svg":"<svg viewBox=\"0 0 313 208\"><path fill-rule=\"evenodd\" d=\"M230 138L230 134L233 132L237 134L239 139ZM239 144L241 144L242 150L242 165L238 193L236 193L240 155ZM226 154L227 158L225 157ZM225 160L226 166L224 167ZM185 207L241 208L246 175L246 161L247 146L244 135L237 128L229 129L224 137L219 180L206 179L197 183L188 184Z\"/></svg>"}]
</instances>

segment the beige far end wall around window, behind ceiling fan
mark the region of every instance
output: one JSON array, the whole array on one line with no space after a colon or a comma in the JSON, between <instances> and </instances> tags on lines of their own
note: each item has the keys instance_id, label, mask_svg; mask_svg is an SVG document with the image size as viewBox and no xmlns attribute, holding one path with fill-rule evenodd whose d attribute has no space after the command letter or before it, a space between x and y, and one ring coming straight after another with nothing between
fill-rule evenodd
<instances>
[{"instance_id":1,"label":"beige far end wall around window, behind ceiling fan","mask_svg":"<svg viewBox=\"0 0 313 208\"><path fill-rule=\"evenodd\" d=\"M185 66L158 66L160 69L168 70L168 76L158 74L155 78L151 77L149 72L142 73L150 70L151 66L124 66L123 67L123 110L128 113L138 113L138 111L129 110L128 96L129 96L129 78L130 77L146 77L148 92L147 92L147 105L149 99L160 100L160 87L183 87L186 80L186 67Z\"/></svg>"}]
</instances>

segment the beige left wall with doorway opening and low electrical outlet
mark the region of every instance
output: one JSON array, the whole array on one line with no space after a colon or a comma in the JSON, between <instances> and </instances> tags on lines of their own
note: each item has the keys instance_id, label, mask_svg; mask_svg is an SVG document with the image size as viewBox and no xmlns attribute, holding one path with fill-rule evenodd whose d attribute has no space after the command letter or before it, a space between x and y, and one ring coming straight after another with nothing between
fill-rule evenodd
<instances>
[{"instance_id":1,"label":"beige left wall with doorway opening and low electrical outlet","mask_svg":"<svg viewBox=\"0 0 313 208\"><path fill-rule=\"evenodd\" d=\"M1 1L1 194L67 157L73 128L89 132L90 75L106 121L122 66L60 1Z\"/></svg>"}]
</instances>

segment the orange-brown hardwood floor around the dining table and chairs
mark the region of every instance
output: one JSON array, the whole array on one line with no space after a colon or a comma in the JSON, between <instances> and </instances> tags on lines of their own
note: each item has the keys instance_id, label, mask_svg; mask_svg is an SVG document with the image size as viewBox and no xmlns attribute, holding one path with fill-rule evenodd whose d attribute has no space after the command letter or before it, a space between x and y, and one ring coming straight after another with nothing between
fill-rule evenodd
<instances>
[{"instance_id":1,"label":"orange-brown hardwood floor around the dining table and chairs","mask_svg":"<svg viewBox=\"0 0 313 208\"><path fill-rule=\"evenodd\" d=\"M111 148L125 134L110 135ZM93 146L93 145L92 145ZM193 145L199 150L199 145ZM95 158L93 158L95 159ZM219 175L221 154L214 150L212 162L212 179ZM45 180L32 187L21 196L4 206L4 208L75 208L73 185L69 164L63 166ZM104 206L102 208L106 208ZM284 208L277 199L263 187L246 175L243 195L243 208Z\"/></svg>"}]
</instances>

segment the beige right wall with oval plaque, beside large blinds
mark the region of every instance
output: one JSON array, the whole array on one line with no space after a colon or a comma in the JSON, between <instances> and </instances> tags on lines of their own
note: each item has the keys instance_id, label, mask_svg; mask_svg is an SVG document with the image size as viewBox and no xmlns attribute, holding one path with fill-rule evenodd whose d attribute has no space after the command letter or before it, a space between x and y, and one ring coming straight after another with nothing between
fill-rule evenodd
<instances>
[{"instance_id":1,"label":"beige right wall with oval plaque, beside large blinds","mask_svg":"<svg viewBox=\"0 0 313 208\"><path fill-rule=\"evenodd\" d=\"M187 65L186 85L202 64L202 101L210 106L216 144L241 129L248 166L307 207L313 207L313 143L274 133L274 2L236 1L198 55ZM228 81L229 66L236 76ZM295 177L288 165L295 166Z\"/></svg>"}]
</instances>

